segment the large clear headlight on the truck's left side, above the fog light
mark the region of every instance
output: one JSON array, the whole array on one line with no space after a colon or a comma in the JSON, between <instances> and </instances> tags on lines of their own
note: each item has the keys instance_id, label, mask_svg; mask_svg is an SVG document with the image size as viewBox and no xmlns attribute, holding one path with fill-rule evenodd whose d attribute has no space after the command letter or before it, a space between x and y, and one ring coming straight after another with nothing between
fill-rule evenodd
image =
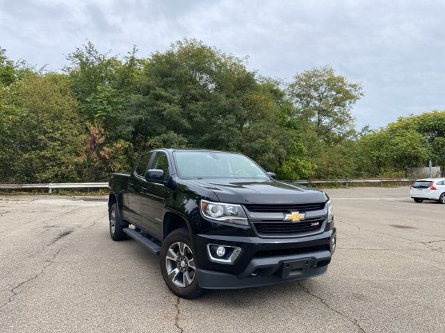
<instances>
[{"instance_id":1,"label":"large clear headlight on the truck's left side, above the fog light","mask_svg":"<svg viewBox=\"0 0 445 333\"><path fill-rule=\"evenodd\" d=\"M211 220L249 225L248 218L245 216L241 205L212 203L211 201L201 200L201 214Z\"/></svg>"}]
</instances>

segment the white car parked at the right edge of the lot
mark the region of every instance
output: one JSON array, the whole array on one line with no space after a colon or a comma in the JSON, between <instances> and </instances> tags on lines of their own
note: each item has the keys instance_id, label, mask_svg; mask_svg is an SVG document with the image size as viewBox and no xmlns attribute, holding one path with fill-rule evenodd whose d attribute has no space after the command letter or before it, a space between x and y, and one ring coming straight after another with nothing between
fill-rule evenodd
<instances>
[{"instance_id":1,"label":"white car parked at the right edge of the lot","mask_svg":"<svg viewBox=\"0 0 445 333\"><path fill-rule=\"evenodd\" d=\"M445 203L445 178L425 178L419 179L411 185L411 198L416 203L423 200L437 200Z\"/></svg>"}]
</instances>

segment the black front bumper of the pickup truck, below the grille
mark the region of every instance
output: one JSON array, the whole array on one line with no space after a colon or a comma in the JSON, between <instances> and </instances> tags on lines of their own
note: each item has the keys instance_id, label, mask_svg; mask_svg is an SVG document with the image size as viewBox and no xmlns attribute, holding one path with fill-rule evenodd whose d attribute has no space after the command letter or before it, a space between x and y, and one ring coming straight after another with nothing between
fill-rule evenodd
<instances>
[{"instance_id":1,"label":"black front bumper of the pickup truck, below the grille","mask_svg":"<svg viewBox=\"0 0 445 333\"><path fill-rule=\"evenodd\" d=\"M264 239L197 235L197 281L204 289L238 289L304 280L327 271L336 246L334 230L312 237ZM241 249L234 262L215 262L211 246Z\"/></svg>"}]
</instances>

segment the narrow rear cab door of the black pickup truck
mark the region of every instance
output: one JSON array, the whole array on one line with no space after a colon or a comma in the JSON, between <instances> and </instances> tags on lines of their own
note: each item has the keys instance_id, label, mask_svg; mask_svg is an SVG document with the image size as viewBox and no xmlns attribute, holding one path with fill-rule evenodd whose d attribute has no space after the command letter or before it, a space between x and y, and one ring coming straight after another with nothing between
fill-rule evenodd
<instances>
[{"instance_id":1,"label":"narrow rear cab door of the black pickup truck","mask_svg":"<svg viewBox=\"0 0 445 333\"><path fill-rule=\"evenodd\" d=\"M152 155L153 153L147 153L140 156L128 182L129 220L136 225L139 225L141 222L140 191L144 184L145 171L147 171Z\"/></svg>"}]
</instances>

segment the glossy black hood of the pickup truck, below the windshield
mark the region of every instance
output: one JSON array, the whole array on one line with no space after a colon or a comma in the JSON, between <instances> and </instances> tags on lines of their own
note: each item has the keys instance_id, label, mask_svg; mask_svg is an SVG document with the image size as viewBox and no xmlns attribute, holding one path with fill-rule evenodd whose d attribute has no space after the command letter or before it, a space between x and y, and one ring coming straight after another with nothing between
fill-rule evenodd
<instances>
[{"instance_id":1,"label":"glossy black hood of the pickup truck, below the windshield","mask_svg":"<svg viewBox=\"0 0 445 333\"><path fill-rule=\"evenodd\" d=\"M323 191L278 180L187 180L213 191L221 202L251 204L322 203L328 198Z\"/></svg>"}]
</instances>

